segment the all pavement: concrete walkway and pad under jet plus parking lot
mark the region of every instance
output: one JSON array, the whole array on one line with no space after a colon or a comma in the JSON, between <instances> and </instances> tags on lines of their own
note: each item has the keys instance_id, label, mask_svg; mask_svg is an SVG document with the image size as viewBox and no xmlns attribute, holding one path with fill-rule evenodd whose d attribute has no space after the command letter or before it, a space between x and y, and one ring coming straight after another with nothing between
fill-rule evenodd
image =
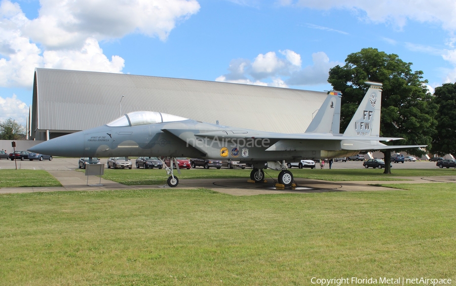
<instances>
[{"instance_id":1,"label":"all pavement: concrete walkway and pad under jet plus parking lot","mask_svg":"<svg viewBox=\"0 0 456 286\"><path fill-rule=\"evenodd\" d=\"M134 160L134 159L133 159ZM106 159L101 159L101 162L106 164ZM54 158L52 161L11 161L0 160L0 171L5 169L15 169L17 163L18 169L23 170L46 170L54 176L62 187L30 187L30 188L1 188L0 193L24 193L24 192L41 192L41 191L71 191L71 190L122 190L122 189L150 189L150 188L167 188L167 185L137 185L125 186L116 182L100 179L95 176L90 178L85 176L84 172L74 172L78 169L78 158ZM363 168L360 161L335 162L333 169L357 169ZM329 166L326 164L325 169ZM393 164L394 169L428 169L438 168L435 162L404 162ZM201 168L198 168L201 169ZM292 168L293 170L295 168ZM195 170L195 169L190 169ZM317 170L309 170L310 172L319 172ZM163 171L163 177L166 178L166 172ZM191 171L190 171L191 172ZM308 192L333 192L333 191L384 191L397 190L385 187L378 187L372 184L382 183L403 183L404 181L354 181L354 182L327 182L321 180L310 180L295 178L298 187L295 190L285 188L279 190L275 188L275 180L268 179L265 183L248 183L248 178L245 179L182 179L177 188L209 188L218 192L223 192L232 195L257 195L257 194L272 194L272 193L308 193ZM410 181L407 183L435 183L435 182L456 182L456 176L442 177L407 177L403 178ZM101 183L98 184L98 183Z\"/></svg>"}]
</instances>

